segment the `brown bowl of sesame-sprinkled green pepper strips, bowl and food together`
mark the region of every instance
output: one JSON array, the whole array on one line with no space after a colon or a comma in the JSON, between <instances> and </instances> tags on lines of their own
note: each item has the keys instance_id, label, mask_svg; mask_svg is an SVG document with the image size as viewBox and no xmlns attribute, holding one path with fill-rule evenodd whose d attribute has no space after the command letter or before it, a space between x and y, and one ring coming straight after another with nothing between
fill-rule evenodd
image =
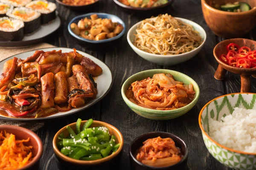
<instances>
[{"instance_id":1,"label":"brown bowl of sesame-sprinkled green pepper strips, bowl and food together","mask_svg":"<svg viewBox=\"0 0 256 170\"><path fill-rule=\"evenodd\" d=\"M111 167L118 163L114 160L123 144L123 136L116 127L93 119L78 119L61 128L52 141L59 165L72 169Z\"/></svg>"}]
</instances>

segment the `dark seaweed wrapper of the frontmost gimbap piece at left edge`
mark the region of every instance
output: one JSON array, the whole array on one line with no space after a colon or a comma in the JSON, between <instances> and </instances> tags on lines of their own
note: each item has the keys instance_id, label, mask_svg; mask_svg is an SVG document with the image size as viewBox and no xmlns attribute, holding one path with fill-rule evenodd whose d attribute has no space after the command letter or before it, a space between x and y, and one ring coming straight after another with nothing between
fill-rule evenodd
<instances>
[{"instance_id":1,"label":"dark seaweed wrapper of the frontmost gimbap piece at left edge","mask_svg":"<svg viewBox=\"0 0 256 170\"><path fill-rule=\"evenodd\" d=\"M24 27L17 31L0 31L0 41L20 41L24 38Z\"/></svg>"}]
</instances>

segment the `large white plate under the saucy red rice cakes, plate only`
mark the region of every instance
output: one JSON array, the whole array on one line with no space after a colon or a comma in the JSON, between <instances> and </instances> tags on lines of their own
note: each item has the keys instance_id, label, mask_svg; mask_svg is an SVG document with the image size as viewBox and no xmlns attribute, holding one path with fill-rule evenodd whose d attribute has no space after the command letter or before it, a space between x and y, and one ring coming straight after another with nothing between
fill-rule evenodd
<instances>
[{"instance_id":1,"label":"large white plate under the saucy red rice cakes, plate only","mask_svg":"<svg viewBox=\"0 0 256 170\"><path fill-rule=\"evenodd\" d=\"M43 50L43 51L62 50L62 52L73 51L73 49L70 49L70 48L43 48L41 50ZM15 56L9 57L9 58L1 61L0 62L0 73L3 72L3 64L7 60L12 59L13 57L17 57L17 58L20 58L20 59L26 59L27 57L34 54L34 52L35 52L35 50L25 52L25 53L21 53L21 54L17 54ZM111 89L111 86L112 86L111 70L108 68L107 65L105 65L105 63L103 63L99 59L97 59L97 58L95 58L95 57L93 57L89 54L86 54L82 51L77 50L77 52L79 52L79 54L82 54L83 56L88 57L89 59L93 60L103 70L102 74L99 75L98 77L96 77L96 79L95 79L95 82L97 83L97 88L98 88L98 94L96 96L96 99L90 101L89 103L87 103L87 105L85 105L81 108L73 108L70 111L56 113L56 114L53 114L53 115L48 116L48 117L42 117L42 118L14 118L14 117L7 117L7 116L0 115L0 120L6 120L6 121L12 121L12 122L44 122L44 121L47 121L49 119L56 119L56 118L59 118L59 117L67 116L69 114L73 114L73 113L76 113L78 111L84 110L85 108L88 108L91 105L94 105L96 102L99 102L104 96L106 96L108 94L109 90Z\"/></svg>"}]
</instances>

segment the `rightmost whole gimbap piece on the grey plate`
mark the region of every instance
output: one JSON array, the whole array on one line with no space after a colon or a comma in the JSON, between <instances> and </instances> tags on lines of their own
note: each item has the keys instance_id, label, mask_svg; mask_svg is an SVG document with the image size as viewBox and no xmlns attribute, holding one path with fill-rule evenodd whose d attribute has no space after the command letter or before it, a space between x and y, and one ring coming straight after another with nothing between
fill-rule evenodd
<instances>
[{"instance_id":1,"label":"rightmost whole gimbap piece on the grey plate","mask_svg":"<svg viewBox=\"0 0 256 170\"><path fill-rule=\"evenodd\" d=\"M56 18L55 10L57 6L55 3L44 0L34 0L26 5L26 8L31 8L41 13L41 23L46 24Z\"/></svg>"}]
</instances>

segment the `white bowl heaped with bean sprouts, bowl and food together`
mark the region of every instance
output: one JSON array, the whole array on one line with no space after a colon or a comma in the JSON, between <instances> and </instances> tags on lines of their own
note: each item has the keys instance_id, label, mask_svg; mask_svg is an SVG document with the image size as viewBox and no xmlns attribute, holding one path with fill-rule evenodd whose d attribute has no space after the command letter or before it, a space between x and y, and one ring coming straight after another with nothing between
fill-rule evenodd
<instances>
[{"instance_id":1,"label":"white bowl heaped with bean sprouts, bowl and food together","mask_svg":"<svg viewBox=\"0 0 256 170\"><path fill-rule=\"evenodd\" d=\"M193 21L160 14L132 26L127 40L143 59L176 65L198 54L206 41L206 32Z\"/></svg>"}]
</instances>

